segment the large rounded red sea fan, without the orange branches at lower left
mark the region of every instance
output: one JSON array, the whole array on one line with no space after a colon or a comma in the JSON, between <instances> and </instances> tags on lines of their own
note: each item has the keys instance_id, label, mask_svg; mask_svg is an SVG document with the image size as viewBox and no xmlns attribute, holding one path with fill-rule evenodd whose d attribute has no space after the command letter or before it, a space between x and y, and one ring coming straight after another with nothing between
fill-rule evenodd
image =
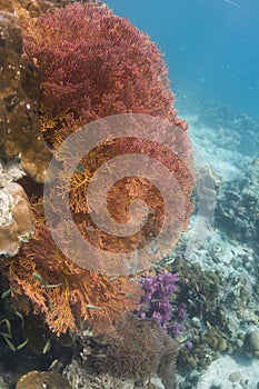
<instances>
[{"instance_id":1,"label":"large rounded red sea fan, without the orange branches at lower left","mask_svg":"<svg viewBox=\"0 0 259 389\"><path fill-rule=\"evenodd\" d=\"M23 24L23 30L27 53L41 73L40 116L42 131L51 146L57 148L83 124L116 114L152 116L169 123L170 131L175 131L178 154L169 152L165 144L145 141L137 136L116 140L108 137L83 157L69 188L70 207L83 237L101 250L124 253L146 247L158 236L165 219L165 199L147 178L128 174L111 188L107 197L109 213L120 225L130 219L129 207L135 199L147 203L148 222L138 233L127 238L113 237L99 229L89 216L101 211L94 200L89 203L87 199L94 172L112 158L138 153L167 167L180 187L182 203L180 206L176 200L170 210L176 219L171 228L173 247L191 210L193 179L188 170L191 153L188 139L179 136L185 133L187 124L177 118L168 71L156 44L127 19L92 3L69 4L53 14ZM161 123L156 130L162 139L167 138L168 124ZM80 142L83 143L83 139ZM67 174L66 163L71 163L74 152L77 150L70 150L62 159L61 174ZM106 174L101 179L97 197L103 196L106 188ZM177 199L176 188L169 181L163 183L165 191ZM139 217L141 220L141 212L138 212L135 219ZM159 256L160 250L155 257Z\"/></svg>"}]
</instances>

